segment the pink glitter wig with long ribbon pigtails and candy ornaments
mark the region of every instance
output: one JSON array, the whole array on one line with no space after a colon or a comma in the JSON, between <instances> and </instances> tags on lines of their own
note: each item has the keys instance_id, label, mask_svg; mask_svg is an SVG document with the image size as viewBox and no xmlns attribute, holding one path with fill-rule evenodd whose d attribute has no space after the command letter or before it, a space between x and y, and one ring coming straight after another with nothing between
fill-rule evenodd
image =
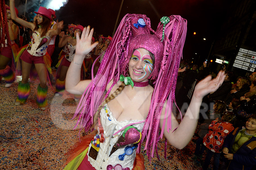
<instances>
[{"instance_id":1,"label":"pink glitter wig with long ribbon pigtails and candy ornaments","mask_svg":"<svg viewBox=\"0 0 256 170\"><path fill-rule=\"evenodd\" d=\"M137 28L133 24L136 24L140 18L144 20L145 26ZM73 117L75 118L80 113L76 127L80 124L80 130L85 128L88 131L90 129L93 115L98 106L108 97L113 85L119 80L119 76L121 74L127 75L127 63L133 50L145 48L152 52L155 58L154 69L150 75L151 80L153 80L154 91L137 152L140 152L141 143L146 138L144 149L147 150L148 158L151 160L155 149L157 153L157 143L162 138L164 130L160 134L158 132L160 128L164 129L166 126L167 115L169 115L167 129L168 131L169 129L174 130L171 128L171 114L169 113L172 111L173 101L175 102L177 72L187 31L187 22L181 16L170 16L169 19L170 22L166 24L164 29L164 40L161 42L163 24L159 23L157 30L154 31L151 28L150 19L146 15L127 14L124 16L104 54L97 75L92 78L92 82L85 90L88 92L84 92L79 102ZM150 34L150 31L153 35ZM107 84L112 79L114 83L104 94ZM160 127L160 115L166 100L164 124Z\"/></svg>"}]
</instances>

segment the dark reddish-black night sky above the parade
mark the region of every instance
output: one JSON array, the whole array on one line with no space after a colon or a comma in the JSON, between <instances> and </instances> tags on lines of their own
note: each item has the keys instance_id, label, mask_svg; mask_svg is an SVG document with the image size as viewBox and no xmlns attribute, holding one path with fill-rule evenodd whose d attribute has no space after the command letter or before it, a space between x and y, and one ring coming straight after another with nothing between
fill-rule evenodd
<instances>
[{"instance_id":1,"label":"dark reddish-black night sky above the parade","mask_svg":"<svg viewBox=\"0 0 256 170\"><path fill-rule=\"evenodd\" d=\"M24 14L26 0L16 0L19 14ZM27 0L28 14L41 6L46 6L50 0ZM5 1L9 5L9 1ZM207 58L211 42L217 37L222 23L226 19L229 3L227 0L124 0L118 24L127 13L146 14L155 30L162 16L180 15L187 20L187 38L183 48L183 58ZM83 26L94 27L96 33L105 37L112 36L121 0L69 0L68 3L56 11L57 18L64 20L64 24L79 23ZM29 9L28 9L29 8ZM23 10L23 12L22 12ZM32 12L32 13L31 13ZM32 17L31 17L32 18ZM118 26L118 25L117 25ZM194 36L193 33L197 34ZM207 41L203 41L206 38ZM197 53L197 56L195 55Z\"/></svg>"}]
</instances>

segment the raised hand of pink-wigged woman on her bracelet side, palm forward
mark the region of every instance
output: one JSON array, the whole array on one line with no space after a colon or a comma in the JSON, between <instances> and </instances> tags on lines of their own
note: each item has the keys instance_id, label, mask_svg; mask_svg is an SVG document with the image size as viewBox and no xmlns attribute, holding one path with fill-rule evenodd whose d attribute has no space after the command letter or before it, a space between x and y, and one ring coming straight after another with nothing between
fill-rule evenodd
<instances>
[{"instance_id":1,"label":"raised hand of pink-wigged woman on her bracelet side, palm forward","mask_svg":"<svg viewBox=\"0 0 256 170\"><path fill-rule=\"evenodd\" d=\"M84 27L81 38L79 38L79 34L77 33L76 55L85 57L93 48L96 47L98 42L91 44L93 31L94 29L92 28L90 30L90 26L88 25L88 27Z\"/></svg>"}]
</instances>

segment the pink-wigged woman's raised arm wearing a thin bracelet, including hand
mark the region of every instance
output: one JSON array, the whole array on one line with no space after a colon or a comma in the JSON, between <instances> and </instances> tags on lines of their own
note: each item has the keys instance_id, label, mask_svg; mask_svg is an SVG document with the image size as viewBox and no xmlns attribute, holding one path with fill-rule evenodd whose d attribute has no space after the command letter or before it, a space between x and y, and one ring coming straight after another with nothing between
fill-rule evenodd
<instances>
[{"instance_id":1,"label":"pink-wigged woman's raised arm wearing a thin bracelet, including hand","mask_svg":"<svg viewBox=\"0 0 256 170\"><path fill-rule=\"evenodd\" d=\"M84 61L84 57L98 44L98 42L91 44L93 30L93 28L90 30L90 26L84 27L81 38L79 39L78 33L76 35L76 53L66 76L66 90L71 94L83 94L84 90L91 82L91 80L80 81L80 69Z\"/></svg>"}]
</instances>

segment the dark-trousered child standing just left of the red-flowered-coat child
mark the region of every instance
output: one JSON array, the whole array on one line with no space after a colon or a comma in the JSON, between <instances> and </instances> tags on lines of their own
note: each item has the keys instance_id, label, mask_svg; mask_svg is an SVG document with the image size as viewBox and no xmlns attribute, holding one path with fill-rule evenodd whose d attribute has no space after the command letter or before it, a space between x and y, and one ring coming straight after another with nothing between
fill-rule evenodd
<instances>
[{"instance_id":1,"label":"dark-trousered child standing just left of the red-flowered-coat child","mask_svg":"<svg viewBox=\"0 0 256 170\"><path fill-rule=\"evenodd\" d=\"M195 152L192 156L188 157L189 160L197 160L197 158L199 158L200 160L202 159L202 155L206 148L205 145L203 145L203 138L209 131L208 127L213 120L216 120L216 121L220 120L221 118L220 115L222 115L225 110L226 110L226 103L220 100L216 100L216 102L213 105L213 113L211 113L209 115L209 118L206 119L200 125L200 128L198 130L199 138L196 141Z\"/></svg>"}]
</instances>

